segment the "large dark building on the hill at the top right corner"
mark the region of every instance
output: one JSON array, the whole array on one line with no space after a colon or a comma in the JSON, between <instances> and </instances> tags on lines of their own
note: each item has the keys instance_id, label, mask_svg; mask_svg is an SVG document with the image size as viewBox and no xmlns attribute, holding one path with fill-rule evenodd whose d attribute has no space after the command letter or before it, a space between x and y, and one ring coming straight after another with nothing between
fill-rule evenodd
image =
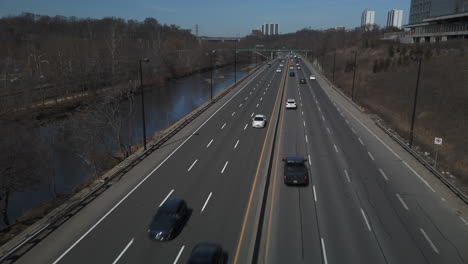
<instances>
[{"instance_id":1,"label":"large dark building on the hill at the top right corner","mask_svg":"<svg viewBox=\"0 0 468 264\"><path fill-rule=\"evenodd\" d=\"M403 28L416 43L468 39L468 0L411 0Z\"/></svg>"}]
</instances>

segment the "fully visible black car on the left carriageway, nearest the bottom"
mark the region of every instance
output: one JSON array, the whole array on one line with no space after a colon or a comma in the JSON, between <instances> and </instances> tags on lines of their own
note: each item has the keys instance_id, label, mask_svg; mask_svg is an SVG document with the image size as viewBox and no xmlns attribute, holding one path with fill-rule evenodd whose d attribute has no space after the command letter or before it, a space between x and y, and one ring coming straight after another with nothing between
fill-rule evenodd
<instances>
[{"instance_id":1,"label":"fully visible black car on the left carriageway, nearest the bottom","mask_svg":"<svg viewBox=\"0 0 468 264\"><path fill-rule=\"evenodd\" d=\"M185 225L188 215L187 203L183 199L167 200L151 220L148 229L149 238L157 241L174 239Z\"/></svg>"}]
</instances>

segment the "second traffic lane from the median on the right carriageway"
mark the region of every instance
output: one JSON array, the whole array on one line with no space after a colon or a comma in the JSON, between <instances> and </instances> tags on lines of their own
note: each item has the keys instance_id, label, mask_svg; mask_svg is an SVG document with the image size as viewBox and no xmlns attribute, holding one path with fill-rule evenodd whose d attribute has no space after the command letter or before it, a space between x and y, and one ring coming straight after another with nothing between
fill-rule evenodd
<instances>
[{"instance_id":1,"label":"second traffic lane from the median on the right carriageway","mask_svg":"<svg viewBox=\"0 0 468 264\"><path fill-rule=\"evenodd\" d=\"M300 86L304 105L311 178L315 182L321 239L330 263L384 263L385 259L369 231L361 201L343 175L339 150L330 138L308 88Z\"/></svg>"}]
</instances>

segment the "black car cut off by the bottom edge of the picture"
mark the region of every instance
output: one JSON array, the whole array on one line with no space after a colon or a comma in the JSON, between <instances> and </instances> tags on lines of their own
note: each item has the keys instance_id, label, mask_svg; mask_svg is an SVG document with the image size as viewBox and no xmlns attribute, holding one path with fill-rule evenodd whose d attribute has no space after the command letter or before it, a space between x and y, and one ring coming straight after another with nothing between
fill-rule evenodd
<instances>
[{"instance_id":1,"label":"black car cut off by the bottom edge of the picture","mask_svg":"<svg viewBox=\"0 0 468 264\"><path fill-rule=\"evenodd\" d=\"M224 264L223 248L214 243L198 243L192 250L188 264Z\"/></svg>"}]
</instances>

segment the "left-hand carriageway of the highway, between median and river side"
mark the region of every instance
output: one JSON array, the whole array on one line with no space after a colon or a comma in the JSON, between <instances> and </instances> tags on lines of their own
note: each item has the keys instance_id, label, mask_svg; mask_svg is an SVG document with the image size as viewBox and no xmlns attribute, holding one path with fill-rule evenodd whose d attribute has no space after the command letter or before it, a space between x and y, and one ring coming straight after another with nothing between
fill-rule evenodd
<instances>
[{"instance_id":1,"label":"left-hand carriageway of the highway, between median and river side","mask_svg":"<svg viewBox=\"0 0 468 264\"><path fill-rule=\"evenodd\" d=\"M167 159L152 160L157 159L156 153L126 175L148 177L128 184L113 201L102 202L107 205L96 209L96 222L80 212L77 218L86 222L62 227L19 263L185 263L191 249L202 241L221 244L230 258L236 251L267 131L252 128L251 120L254 114L265 114L269 120L285 77L284 72L276 73L278 65L262 67L245 87L232 91L234 95L227 96L229 100L207 116L193 136L172 140L170 147L183 143ZM151 241L148 224L169 197L185 199L191 217L174 240Z\"/></svg>"}]
</instances>

